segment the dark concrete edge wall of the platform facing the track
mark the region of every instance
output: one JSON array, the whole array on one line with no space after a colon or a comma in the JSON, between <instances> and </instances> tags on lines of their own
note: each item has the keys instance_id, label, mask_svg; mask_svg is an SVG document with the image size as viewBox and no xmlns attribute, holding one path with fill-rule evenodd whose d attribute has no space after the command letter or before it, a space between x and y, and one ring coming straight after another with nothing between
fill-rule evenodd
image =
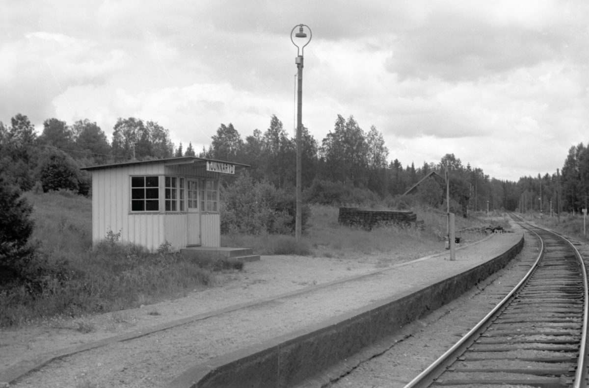
<instances>
[{"instance_id":1,"label":"dark concrete edge wall of the platform facing the track","mask_svg":"<svg viewBox=\"0 0 589 388\"><path fill-rule=\"evenodd\" d=\"M523 246L524 236L501 256L461 274L413 287L389 300L217 357L187 370L171 387L282 388L301 383L461 296L505 267Z\"/></svg>"}]
</instances>

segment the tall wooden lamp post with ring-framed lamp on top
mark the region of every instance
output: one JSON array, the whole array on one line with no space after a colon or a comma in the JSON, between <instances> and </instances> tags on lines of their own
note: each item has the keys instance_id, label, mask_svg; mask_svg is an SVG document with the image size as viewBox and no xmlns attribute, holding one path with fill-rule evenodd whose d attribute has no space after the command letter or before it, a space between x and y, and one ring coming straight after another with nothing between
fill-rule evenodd
<instances>
[{"instance_id":1,"label":"tall wooden lamp post with ring-framed lamp on top","mask_svg":"<svg viewBox=\"0 0 589 388\"><path fill-rule=\"evenodd\" d=\"M294 34L296 38L306 38L307 34L303 31L303 27L306 27L309 30L309 40L301 47L294 43L293 39L293 32L294 29L299 27L299 32ZM313 37L313 33L308 25L299 24L293 27L292 31L290 31L290 41L293 42L293 45L297 48L297 57L294 58L294 63L296 63L298 74L297 74L297 125L296 125L296 219L294 225L294 233L296 236L297 243L300 243L300 235L301 235L301 228L302 228L302 201L301 201L301 170L302 165L300 161L300 142L301 142L301 131L303 127L303 52L305 51L305 46L309 44L311 38Z\"/></svg>"}]
</instances>

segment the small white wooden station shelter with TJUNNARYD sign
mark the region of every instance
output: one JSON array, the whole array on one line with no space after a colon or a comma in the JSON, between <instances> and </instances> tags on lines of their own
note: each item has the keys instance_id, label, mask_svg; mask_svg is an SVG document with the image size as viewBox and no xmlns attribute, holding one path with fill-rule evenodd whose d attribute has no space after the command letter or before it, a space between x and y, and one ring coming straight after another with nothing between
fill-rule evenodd
<instances>
[{"instance_id":1,"label":"small white wooden station shelter with TJUNNARYD sign","mask_svg":"<svg viewBox=\"0 0 589 388\"><path fill-rule=\"evenodd\" d=\"M112 231L151 251L219 247L219 177L243 167L178 157L82 168L92 173L92 241Z\"/></svg>"}]
</instances>

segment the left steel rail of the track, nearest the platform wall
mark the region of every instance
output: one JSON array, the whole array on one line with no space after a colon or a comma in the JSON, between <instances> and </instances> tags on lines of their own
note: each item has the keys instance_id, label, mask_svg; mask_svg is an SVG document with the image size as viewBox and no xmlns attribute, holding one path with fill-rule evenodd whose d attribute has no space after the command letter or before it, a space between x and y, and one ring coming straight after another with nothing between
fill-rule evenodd
<instances>
[{"instance_id":1,"label":"left steel rail of the track, nearest the platform wall","mask_svg":"<svg viewBox=\"0 0 589 388\"><path fill-rule=\"evenodd\" d=\"M444 372L446 365L448 364L448 360L452 357L458 358L460 354L464 353L466 343L468 341L474 340L474 336L478 333L478 331L481 330L482 327L484 327L485 325L489 325L491 323L491 320L495 317L495 314L497 314L499 310L504 309L507 306L508 301L512 299L514 294L517 293L517 291L519 291L519 289L525 284L528 278L530 278L531 274L534 273L535 269L538 267L538 263L540 263L540 259L544 254L544 241L542 241L542 238L538 236L537 233L535 233L534 231L531 232L538 237L538 239L540 240L541 247L540 254L538 254L536 261L534 262L528 273L525 274L525 276L522 278L522 280L519 281L517 286L515 286L514 289L511 290L511 292L509 292L509 294L507 294L507 296L503 300L501 300L499 304L497 304L497 306L495 306L494 309L491 310L491 312L487 314L487 316L485 316L479 323L477 323L475 327L473 327L468 333L466 333L464 337L458 340L458 342L456 342L454 346L446 350L446 352L442 354L442 356L438 357L438 359L435 360L434 363L432 363L429 367L423 370L423 372L419 373L418 376L416 376L415 379L411 380L411 382L409 382L404 388L428 387L434 381L434 379L436 379L439 376L439 374L442 374ZM587 299L585 298L585 300ZM442 368L444 370L441 370Z\"/></svg>"}]
</instances>

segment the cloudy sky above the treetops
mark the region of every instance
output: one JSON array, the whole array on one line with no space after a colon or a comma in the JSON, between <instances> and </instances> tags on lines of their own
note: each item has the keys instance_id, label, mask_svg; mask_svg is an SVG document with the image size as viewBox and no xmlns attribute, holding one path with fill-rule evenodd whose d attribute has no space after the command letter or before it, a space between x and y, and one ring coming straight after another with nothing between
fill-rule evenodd
<instances>
[{"instance_id":1,"label":"cloudy sky above the treetops","mask_svg":"<svg viewBox=\"0 0 589 388\"><path fill-rule=\"evenodd\" d=\"M491 177L562 167L589 142L585 0L0 0L0 120L157 121L175 144L242 137L275 114L293 133L296 47L310 26L303 123L337 114L391 160L454 153Z\"/></svg>"}]
</instances>

